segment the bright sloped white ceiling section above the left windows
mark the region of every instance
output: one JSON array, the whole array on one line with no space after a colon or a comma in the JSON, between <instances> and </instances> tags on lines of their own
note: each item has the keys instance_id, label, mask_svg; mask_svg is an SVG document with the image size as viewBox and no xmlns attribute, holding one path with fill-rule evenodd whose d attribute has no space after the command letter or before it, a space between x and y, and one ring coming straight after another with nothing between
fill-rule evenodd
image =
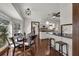
<instances>
[{"instance_id":1,"label":"bright sloped white ceiling section above the left windows","mask_svg":"<svg viewBox=\"0 0 79 59\"><path fill-rule=\"evenodd\" d=\"M21 16L17 13L11 3L0 3L0 13L5 14L12 19L22 20Z\"/></svg>"}]
</instances>

